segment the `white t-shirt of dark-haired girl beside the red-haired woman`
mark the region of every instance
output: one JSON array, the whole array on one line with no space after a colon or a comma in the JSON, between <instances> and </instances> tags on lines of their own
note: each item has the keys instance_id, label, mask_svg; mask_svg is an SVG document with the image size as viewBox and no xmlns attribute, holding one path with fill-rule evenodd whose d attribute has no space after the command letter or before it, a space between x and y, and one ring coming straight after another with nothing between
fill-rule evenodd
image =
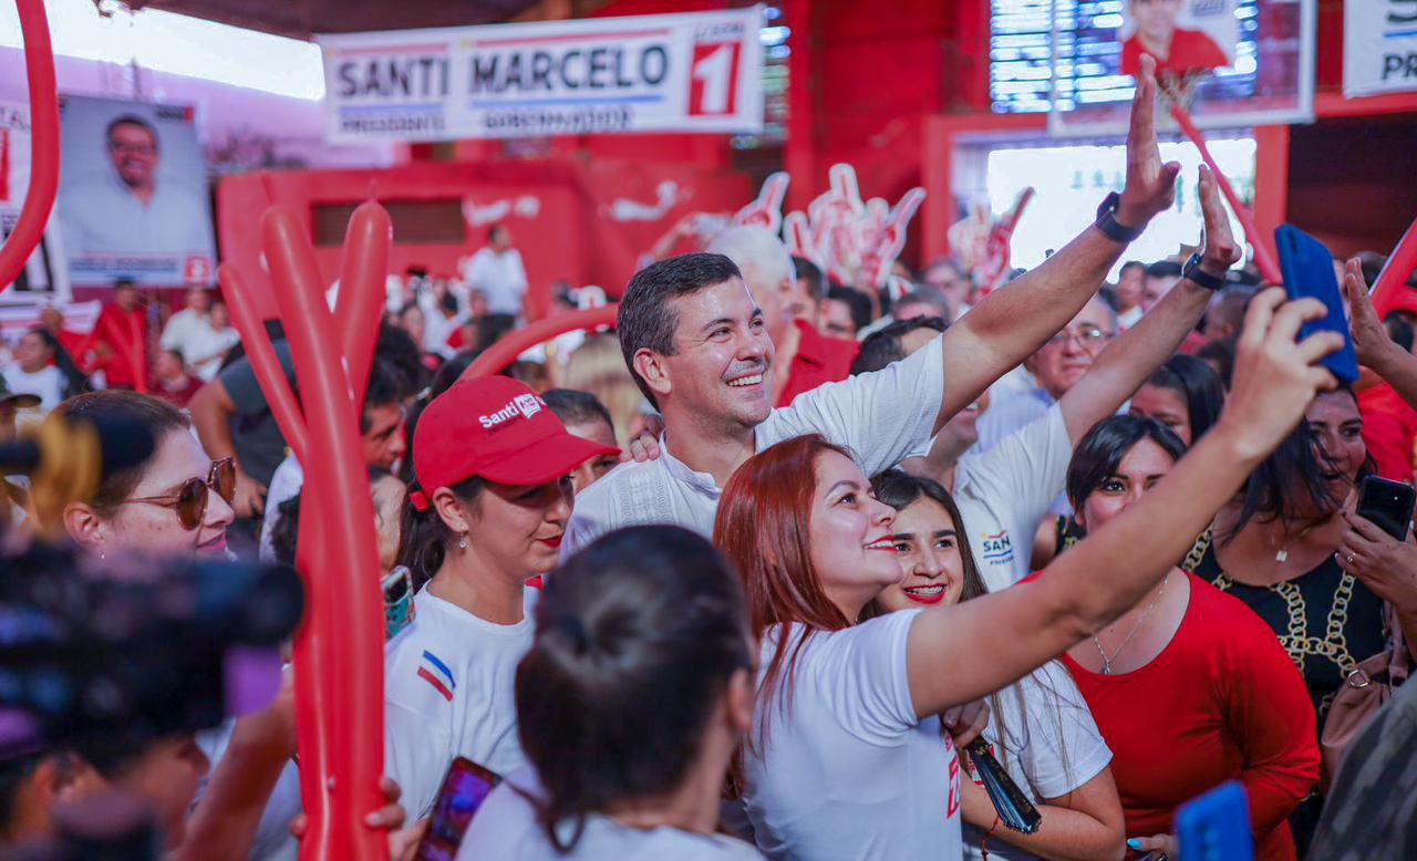
<instances>
[{"instance_id":1,"label":"white t-shirt of dark-haired girl beside the red-haired woman","mask_svg":"<svg viewBox=\"0 0 1417 861\"><path fill-rule=\"evenodd\" d=\"M1066 796L1098 776L1112 762L1112 752L1097 731L1087 701L1063 664L1043 664L1000 691L993 702L999 708L983 735L995 758L1034 804L1043 799ZM999 749L1000 726L1003 751ZM964 837L965 857L982 860L979 845L983 831L965 824ZM989 841L989 857L1032 861L1037 855L1009 845L996 836Z\"/></svg>"}]
</instances>

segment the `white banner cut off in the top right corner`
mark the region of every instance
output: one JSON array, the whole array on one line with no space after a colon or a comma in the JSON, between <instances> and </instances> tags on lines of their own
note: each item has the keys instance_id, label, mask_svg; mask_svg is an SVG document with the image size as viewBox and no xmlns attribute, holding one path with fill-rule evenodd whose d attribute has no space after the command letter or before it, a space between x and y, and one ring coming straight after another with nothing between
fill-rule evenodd
<instances>
[{"instance_id":1,"label":"white banner cut off in the top right corner","mask_svg":"<svg viewBox=\"0 0 1417 861\"><path fill-rule=\"evenodd\" d=\"M1417 91L1417 0L1345 0L1343 95Z\"/></svg>"}]
</instances>

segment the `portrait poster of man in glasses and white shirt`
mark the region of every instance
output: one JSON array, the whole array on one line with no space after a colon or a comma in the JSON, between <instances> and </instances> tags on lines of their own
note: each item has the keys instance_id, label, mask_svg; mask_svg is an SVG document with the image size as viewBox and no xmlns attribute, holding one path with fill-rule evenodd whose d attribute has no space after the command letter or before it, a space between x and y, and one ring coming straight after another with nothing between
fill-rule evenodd
<instances>
[{"instance_id":1,"label":"portrait poster of man in glasses and white shirt","mask_svg":"<svg viewBox=\"0 0 1417 861\"><path fill-rule=\"evenodd\" d=\"M207 171L190 108L64 96L60 224L77 286L211 283Z\"/></svg>"}]
</instances>

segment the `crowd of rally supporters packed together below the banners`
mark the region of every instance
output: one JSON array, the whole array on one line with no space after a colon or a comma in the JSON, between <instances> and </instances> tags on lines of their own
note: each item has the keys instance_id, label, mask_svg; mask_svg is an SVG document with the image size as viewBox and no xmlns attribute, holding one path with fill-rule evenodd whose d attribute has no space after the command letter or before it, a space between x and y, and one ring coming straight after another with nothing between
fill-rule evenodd
<instances>
[{"instance_id":1,"label":"crowd of rally supporters packed together below the banners","mask_svg":"<svg viewBox=\"0 0 1417 861\"><path fill-rule=\"evenodd\" d=\"M1204 167L1196 253L1125 261L1178 173L1142 65L1125 187L993 292L939 261L893 300L737 227L642 268L614 331L469 378L527 317L510 232L390 278L359 432L390 610L366 821L395 857L455 758L503 779L459 858L1175 860L1178 807L1226 782L1257 858L1414 857L1417 687L1366 734L1333 717L1379 684L1359 664L1413 663L1417 544L1355 510L1367 476L1413 480L1411 319L1348 263L1340 384L1342 337L1299 337L1322 304L1236 268ZM99 559L295 562L306 466L225 309L184 302L159 327L122 285L94 333L50 309L14 347L11 419L154 439L31 525ZM173 858L295 858L298 748L288 687L197 736L30 752L0 845L116 786Z\"/></svg>"}]
</instances>

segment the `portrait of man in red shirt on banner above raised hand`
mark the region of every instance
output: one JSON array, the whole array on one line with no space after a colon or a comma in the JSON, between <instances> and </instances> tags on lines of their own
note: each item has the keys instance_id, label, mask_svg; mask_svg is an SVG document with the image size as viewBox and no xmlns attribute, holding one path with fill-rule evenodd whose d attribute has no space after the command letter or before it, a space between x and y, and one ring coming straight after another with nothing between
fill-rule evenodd
<instances>
[{"instance_id":1,"label":"portrait of man in red shirt on banner above raised hand","mask_svg":"<svg viewBox=\"0 0 1417 861\"><path fill-rule=\"evenodd\" d=\"M1122 74L1141 71L1142 54L1158 71L1213 69L1234 62L1234 0L1122 0Z\"/></svg>"}]
</instances>

